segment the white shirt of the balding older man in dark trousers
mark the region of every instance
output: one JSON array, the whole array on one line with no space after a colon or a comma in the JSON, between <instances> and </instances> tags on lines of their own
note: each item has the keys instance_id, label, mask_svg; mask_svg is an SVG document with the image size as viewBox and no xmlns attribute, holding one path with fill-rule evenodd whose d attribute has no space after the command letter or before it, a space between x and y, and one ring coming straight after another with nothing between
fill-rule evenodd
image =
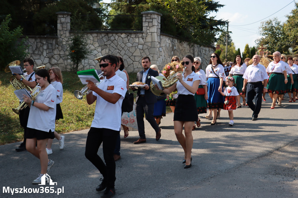
<instances>
[{"instance_id":1,"label":"white shirt of the balding older man in dark trousers","mask_svg":"<svg viewBox=\"0 0 298 198\"><path fill-rule=\"evenodd\" d=\"M257 65L249 65L244 74L244 79L247 79L247 82L258 82L268 79L268 74L266 73L266 67L258 63Z\"/></svg>"}]
</instances>

